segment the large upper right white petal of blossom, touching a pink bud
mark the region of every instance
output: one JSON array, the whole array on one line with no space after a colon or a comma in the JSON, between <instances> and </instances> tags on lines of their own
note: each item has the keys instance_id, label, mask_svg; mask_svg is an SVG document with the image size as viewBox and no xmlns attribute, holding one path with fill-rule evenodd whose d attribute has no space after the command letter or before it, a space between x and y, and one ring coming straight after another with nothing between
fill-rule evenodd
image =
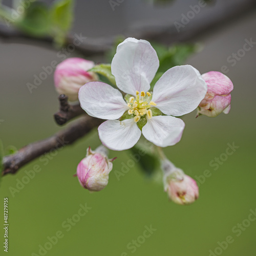
<instances>
[{"instance_id":1,"label":"large upper right white petal of blossom, touching a pink bud","mask_svg":"<svg viewBox=\"0 0 256 256\"><path fill-rule=\"evenodd\" d=\"M195 110L207 92L207 84L190 65L167 70L157 81L152 101L166 115L182 116Z\"/></svg>"}]
</instances>

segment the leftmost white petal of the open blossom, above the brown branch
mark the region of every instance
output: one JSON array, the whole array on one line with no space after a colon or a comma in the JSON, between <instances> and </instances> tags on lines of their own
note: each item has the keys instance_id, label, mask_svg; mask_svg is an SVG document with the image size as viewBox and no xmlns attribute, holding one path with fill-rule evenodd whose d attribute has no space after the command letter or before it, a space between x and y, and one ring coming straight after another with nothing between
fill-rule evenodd
<instances>
[{"instance_id":1,"label":"leftmost white petal of the open blossom, above the brown branch","mask_svg":"<svg viewBox=\"0 0 256 256\"><path fill-rule=\"evenodd\" d=\"M88 82L78 94L81 108L88 115L101 119L117 119L129 109L122 94L103 82Z\"/></svg>"}]
</instances>

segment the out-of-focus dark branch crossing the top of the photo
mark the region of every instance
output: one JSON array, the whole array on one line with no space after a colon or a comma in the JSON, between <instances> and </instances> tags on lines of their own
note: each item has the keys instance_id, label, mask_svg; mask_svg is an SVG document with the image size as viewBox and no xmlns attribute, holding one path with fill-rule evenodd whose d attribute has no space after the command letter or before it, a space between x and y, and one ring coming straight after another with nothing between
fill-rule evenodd
<instances>
[{"instance_id":1,"label":"out-of-focus dark branch crossing the top of the photo","mask_svg":"<svg viewBox=\"0 0 256 256\"><path fill-rule=\"evenodd\" d=\"M213 3L214 4L214 3ZM171 44L173 42L193 40L195 37L205 35L212 32L212 29L223 28L233 21L236 21L239 17L246 15L255 10L256 2L254 0L244 0L239 3L234 1L223 1L222 9L224 12L220 12L219 9L212 11L211 13L205 13L201 18L191 20L191 22L182 29L177 31L176 26L171 24L161 24L158 26L139 26L127 29L123 34L125 37L144 38L148 40L156 40L164 44ZM53 38L48 37L33 37L26 35L15 28L8 28L5 25L0 24L0 38L6 42L19 42L24 44L35 43L43 47L52 49ZM67 37L66 46L73 44L75 36L69 35ZM103 38L90 38L87 37L81 45L76 47L76 51L83 55L103 55L106 51L111 50L113 42L116 36L108 36Z\"/></svg>"}]
</instances>

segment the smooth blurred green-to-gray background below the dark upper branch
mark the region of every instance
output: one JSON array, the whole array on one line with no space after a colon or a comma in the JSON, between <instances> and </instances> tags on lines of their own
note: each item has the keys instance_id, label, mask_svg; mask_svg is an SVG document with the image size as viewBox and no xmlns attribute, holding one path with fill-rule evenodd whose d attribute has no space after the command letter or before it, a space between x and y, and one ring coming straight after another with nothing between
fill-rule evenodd
<instances>
[{"instance_id":1,"label":"smooth blurred green-to-gray background below the dark upper branch","mask_svg":"<svg viewBox=\"0 0 256 256\"><path fill-rule=\"evenodd\" d=\"M254 256L256 251L256 221L248 219L250 210L256 211L255 173L255 59L256 45L236 65L231 67L227 57L243 48L244 40L256 41L256 12L234 20L231 24L209 31L197 38L204 48L191 56L186 63L201 73L221 71L234 84L231 111L217 118L196 113L185 116L185 131L181 142L164 149L176 166L195 178L209 170L211 176L200 184L199 200L189 206L169 202L161 183L145 178L138 165L118 180L114 170L130 159L130 152L111 152L117 157L110 173L108 186L99 193L83 189L72 175L90 145L99 145L97 130L72 146L59 151L45 162L35 160L16 175L8 175L1 182L3 198L9 198L9 255L39 254L39 245L47 237L62 231L63 238L47 250L46 255L210 255L220 247L218 242L232 236L233 243L226 249L217 249L215 255ZM33 82L42 66L58 60L57 50L46 50L21 44L0 44L1 94L0 138L4 147L20 148L34 140L43 139L60 128L53 121L58 109L57 94L50 75L33 93L26 83ZM96 62L101 57L93 58ZM209 164L226 152L227 143L237 148L227 160L214 170ZM14 196L10 187L26 175L35 164L41 172ZM67 231L63 222L76 218L80 204L91 207L88 213ZM3 207L2 214L3 216ZM244 221L244 222L243 222ZM3 223L3 217L0 221ZM241 236L232 230L244 223ZM136 251L127 248L137 240L144 226L156 230ZM243 225L243 224L242 224ZM2 225L3 227L3 225ZM0 233L3 245L4 231ZM241 229L241 228L240 228ZM1 254L4 251L1 248ZM126 253L126 254L125 254ZM219 254L218 254L219 253ZM212 254L214 255L214 254Z\"/></svg>"}]
</instances>

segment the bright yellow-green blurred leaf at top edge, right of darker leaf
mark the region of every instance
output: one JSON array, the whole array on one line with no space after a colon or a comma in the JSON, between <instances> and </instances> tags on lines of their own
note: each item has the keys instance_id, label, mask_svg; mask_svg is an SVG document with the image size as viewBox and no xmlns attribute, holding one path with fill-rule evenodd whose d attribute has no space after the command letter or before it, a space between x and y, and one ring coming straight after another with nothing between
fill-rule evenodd
<instances>
[{"instance_id":1,"label":"bright yellow-green blurred leaf at top edge, right of darker leaf","mask_svg":"<svg viewBox=\"0 0 256 256\"><path fill-rule=\"evenodd\" d=\"M58 0L51 7L52 26L62 32L68 32L73 23L73 0Z\"/></svg>"}]
</instances>

